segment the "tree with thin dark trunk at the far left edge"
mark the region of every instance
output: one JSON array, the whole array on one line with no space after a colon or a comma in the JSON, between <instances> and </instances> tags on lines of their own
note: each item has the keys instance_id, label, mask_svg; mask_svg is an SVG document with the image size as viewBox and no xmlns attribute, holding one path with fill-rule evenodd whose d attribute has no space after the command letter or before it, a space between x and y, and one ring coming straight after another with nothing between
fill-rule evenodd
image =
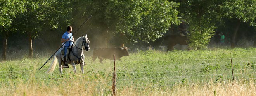
<instances>
[{"instance_id":1,"label":"tree with thin dark trunk at the far left edge","mask_svg":"<svg viewBox=\"0 0 256 96\"><path fill-rule=\"evenodd\" d=\"M3 60L6 60L7 37L13 19L25 11L23 0L0 0L0 32L3 34Z\"/></svg>"}]
</instances>

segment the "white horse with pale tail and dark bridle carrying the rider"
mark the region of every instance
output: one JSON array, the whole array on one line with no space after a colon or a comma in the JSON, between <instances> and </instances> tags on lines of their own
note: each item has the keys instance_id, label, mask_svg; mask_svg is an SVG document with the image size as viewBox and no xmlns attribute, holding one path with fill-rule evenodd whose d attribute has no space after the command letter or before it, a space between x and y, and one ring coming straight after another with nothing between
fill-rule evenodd
<instances>
[{"instance_id":1,"label":"white horse with pale tail and dark bridle carrying the rider","mask_svg":"<svg viewBox=\"0 0 256 96\"><path fill-rule=\"evenodd\" d=\"M82 73L83 72L83 65L85 65L84 63L84 58L85 56L83 55L83 50L86 50L86 51L89 51L90 50L90 41L88 40L87 38L87 35L85 36L82 36L80 38L78 38L75 42L74 42L74 45L72 48L71 48L71 51L69 53L69 59L68 59L68 63L72 65L73 67L73 70L74 70L74 73L76 74L76 66L75 65L78 65L80 64L81 66L81 70L82 70ZM85 47L85 48L84 48ZM48 69L48 71L46 73L52 73L56 67L56 64L57 64L57 61L59 62L59 71L61 74L62 73L62 70L64 68L64 65L65 65L65 61L64 61L64 54L61 53L61 50L63 48L60 48L56 54L54 55L54 58L53 58L53 61Z\"/></svg>"}]
</instances>

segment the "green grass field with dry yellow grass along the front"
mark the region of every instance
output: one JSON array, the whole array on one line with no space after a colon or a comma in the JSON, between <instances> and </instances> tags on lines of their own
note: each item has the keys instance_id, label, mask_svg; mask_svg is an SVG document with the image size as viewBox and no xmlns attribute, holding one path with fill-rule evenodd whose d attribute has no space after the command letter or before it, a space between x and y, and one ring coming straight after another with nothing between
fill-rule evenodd
<instances>
[{"instance_id":1,"label":"green grass field with dry yellow grass along the front","mask_svg":"<svg viewBox=\"0 0 256 96\"><path fill-rule=\"evenodd\" d=\"M256 48L162 52L137 51L116 61L117 95L256 95ZM86 55L86 52L84 52ZM50 53L49 53L50 54ZM37 54L0 62L1 96L112 95L113 61L92 62L86 56L85 74L66 68L46 74L50 55ZM232 66L234 80L232 76Z\"/></svg>"}]
</instances>

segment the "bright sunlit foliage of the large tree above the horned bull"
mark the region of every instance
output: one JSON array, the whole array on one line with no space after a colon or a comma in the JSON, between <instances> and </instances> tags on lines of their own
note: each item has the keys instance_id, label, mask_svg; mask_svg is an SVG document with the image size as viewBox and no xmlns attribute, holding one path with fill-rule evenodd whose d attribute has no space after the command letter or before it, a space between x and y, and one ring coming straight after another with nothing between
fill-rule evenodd
<instances>
[{"instance_id":1,"label":"bright sunlit foliage of the large tree above the horned bull","mask_svg":"<svg viewBox=\"0 0 256 96\"><path fill-rule=\"evenodd\" d=\"M178 23L177 4L164 0L116 1L116 31L129 41L155 41L163 36L171 23Z\"/></svg>"}]
</instances>

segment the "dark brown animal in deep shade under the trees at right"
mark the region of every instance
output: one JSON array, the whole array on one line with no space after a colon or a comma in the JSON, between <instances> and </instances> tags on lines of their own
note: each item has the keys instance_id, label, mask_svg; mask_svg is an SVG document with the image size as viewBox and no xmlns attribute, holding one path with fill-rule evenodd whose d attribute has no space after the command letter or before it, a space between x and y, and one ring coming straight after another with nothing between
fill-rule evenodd
<instances>
[{"instance_id":1,"label":"dark brown animal in deep shade under the trees at right","mask_svg":"<svg viewBox=\"0 0 256 96\"><path fill-rule=\"evenodd\" d=\"M174 50L174 47L176 44L180 45L188 45L188 37L186 36L187 34L184 33L175 33L171 35L167 35L164 37L164 43L167 46L167 51L172 51Z\"/></svg>"}]
</instances>

